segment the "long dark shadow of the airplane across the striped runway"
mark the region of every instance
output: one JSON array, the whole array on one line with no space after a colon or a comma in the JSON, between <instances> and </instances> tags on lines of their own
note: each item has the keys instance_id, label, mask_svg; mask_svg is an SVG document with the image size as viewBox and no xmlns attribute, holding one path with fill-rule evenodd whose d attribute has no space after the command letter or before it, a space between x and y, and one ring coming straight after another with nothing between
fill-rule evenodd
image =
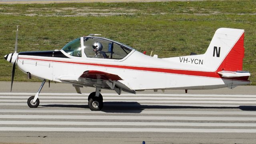
<instances>
[{"instance_id":1,"label":"long dark shadow of the airplane across the striped runway","mask_svg":"<svg viewBox=\"0 0 256 144\"><path fill-rule=\"evenodd\" d=\"M63 108L89 108L87 104L48 104L43 107L63 107ZM144 105L138 102L104 102L101 111L107 113L140 113L144 109L240 109L244 111L256 111L256 106L234 106L234 107L212 107L212 106L161 106L161 105Z\"/></svg>"}]
</instances>

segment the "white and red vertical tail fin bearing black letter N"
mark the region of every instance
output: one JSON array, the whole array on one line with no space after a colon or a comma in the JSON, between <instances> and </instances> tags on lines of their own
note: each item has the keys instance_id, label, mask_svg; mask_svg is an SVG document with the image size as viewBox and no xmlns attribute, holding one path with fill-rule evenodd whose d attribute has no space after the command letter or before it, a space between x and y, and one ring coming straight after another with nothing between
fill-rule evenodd
<instances>
[{"instance_id":1,"label":"white and red vertical tail fin bearing black letter N","mask_svg":"<svg viewBox=\"0 0 256 144\"><path fill-rule=\"evenodd\" d=\"M240 71L244 58L244 30L219 28L206 53L204 64L212 71Z\"/></svg>"}]
</instances>

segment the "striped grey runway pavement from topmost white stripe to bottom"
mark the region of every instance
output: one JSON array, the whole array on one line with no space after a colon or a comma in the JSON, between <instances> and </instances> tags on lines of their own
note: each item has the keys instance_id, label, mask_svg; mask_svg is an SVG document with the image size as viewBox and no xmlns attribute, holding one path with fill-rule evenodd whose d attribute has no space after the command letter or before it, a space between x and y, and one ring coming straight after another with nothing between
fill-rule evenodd
<instances>
[{"instance_id":1,"label":"striped grey runway pavement from topmost white stripe to bottom","mask_svg":"<svg viewBox=\"0 0 256 144\"><path fill-rule=\"evenodd\" d=\"M163 144L256 142L253 94L103 94L102 111L90 111L87 96L0 93L0 142L70 144Z\"/></svg>"}]
</instances>

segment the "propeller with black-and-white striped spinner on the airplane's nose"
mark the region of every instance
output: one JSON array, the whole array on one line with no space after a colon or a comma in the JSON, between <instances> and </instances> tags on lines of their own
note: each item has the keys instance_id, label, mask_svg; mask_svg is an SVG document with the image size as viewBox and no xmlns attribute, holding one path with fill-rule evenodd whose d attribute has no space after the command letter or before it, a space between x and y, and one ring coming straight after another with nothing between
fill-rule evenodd
<instances>
[{"instance_id":1,"label":"propeller with black-and-white striped spinner on the airplane's nose","mask_svg":"<svg viewBox=\"0 0 256 144\"><path fill-rule=\"evenodd\" d=\"M12 84L13 84L14 74L15 74L15 66L16 66L16 62L18 60L18 53L17 53L17 47L18 47L18 27L19 26L17 26L17 31L16 31L16 41L15 41L14 52L4 56L5 60L7 60L8 62L13 64L13 66L12 66L11 92L12 92Z\"/></svg>"}]
</instances>

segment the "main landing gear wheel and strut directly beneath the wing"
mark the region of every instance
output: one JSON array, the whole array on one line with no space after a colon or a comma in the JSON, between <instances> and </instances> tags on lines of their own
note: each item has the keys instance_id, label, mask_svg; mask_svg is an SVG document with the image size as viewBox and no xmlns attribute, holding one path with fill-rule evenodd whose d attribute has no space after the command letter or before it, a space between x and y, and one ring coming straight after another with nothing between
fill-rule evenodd
<instances>
[{"instance_id":1,"label":"main landing gear wheel and strut directly beneath the wing","mask_svg":"<svg viewBox=\"0 0 256 144\"><path fill-rule=\"evenodd\" d=\"M100 94L101 88L97 87L96 92L92 92L88 96L88 106L92 111L98 111L103 108L103 97Z\"/></svg>"}]
</instances>

